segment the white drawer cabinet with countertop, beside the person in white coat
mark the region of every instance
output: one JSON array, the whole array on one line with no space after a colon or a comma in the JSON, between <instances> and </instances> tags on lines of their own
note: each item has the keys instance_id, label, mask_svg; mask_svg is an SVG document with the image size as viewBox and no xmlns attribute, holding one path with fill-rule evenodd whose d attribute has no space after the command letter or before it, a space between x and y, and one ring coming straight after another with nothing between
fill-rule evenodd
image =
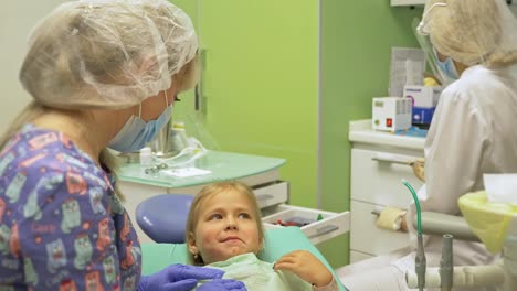
<instances>
[{"instance_id":1,"label":"white drawer cabinet with countertop, beside the person in white coat","mask_svg":"<svg viewBox=\"0 0 517 291\"><path fill-rule=\"evenodd\" d=\"M408 246L408 234L378 228L383 207L407 208L411 193L405 179L416 190L422 186L411 166L423 158L424 138L395 136L371 130L370 120L350 122L350 263L384 255Z\"/></svg>"}]
</instances>

